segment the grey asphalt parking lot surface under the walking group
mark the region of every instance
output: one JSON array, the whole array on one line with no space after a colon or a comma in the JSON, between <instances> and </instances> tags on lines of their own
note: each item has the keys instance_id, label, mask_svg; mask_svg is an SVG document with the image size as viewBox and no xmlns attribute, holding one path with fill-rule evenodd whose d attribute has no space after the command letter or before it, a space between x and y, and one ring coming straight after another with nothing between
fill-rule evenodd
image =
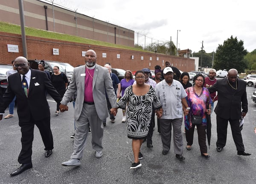
<instances>
[{"instance_id":1,"label":"grey asphalt parking lot surface under the walking group","mask_svg":"<svg viewBox=\"0 0 256 184\"><path fill-rule=\"evenodd\" d=\"M126 124L121 122L122 110L119 109L116 122L112 124L108 118L104 127L103 156L95 157L91 146L91 134L87 137L84 156L80 167L61 166L70 159L73 151L73 105L69 103L69 111L54 115L56 103L48 98L51 111L51 129L54 138L53 153L44 157L44 144L38 128L35 127L32 169L11 177L10 173L20 164L17 157L20 152L20 127L15 107L15 116L0 121L0 184L254 184L256 181L256 103L251 100L253 87L247 86L248 113L244 118L242 137L245 151L250 156L237 155L230 126L228 126L227 145L222 152L217 152L215 142L216 117L212 113L212 138L208 147L209 159L203 158L198 145L197 131L190 151L186 150L186 138L183 133L184 161L175 158L173 142L167 155L162 155L161 136L155 126L153 148L142 145L142 167L130 170L133 161L131 139L127 138ZM215 102L215 106L216 106ZM38 109L40 110L40 109ZM8 113L6 109L5 115ZM5 116L4 115L4 116ZM182 131L184 125L182 125ZM93 134L93 132L92 132Z\"/></svg>"}]
</instances>

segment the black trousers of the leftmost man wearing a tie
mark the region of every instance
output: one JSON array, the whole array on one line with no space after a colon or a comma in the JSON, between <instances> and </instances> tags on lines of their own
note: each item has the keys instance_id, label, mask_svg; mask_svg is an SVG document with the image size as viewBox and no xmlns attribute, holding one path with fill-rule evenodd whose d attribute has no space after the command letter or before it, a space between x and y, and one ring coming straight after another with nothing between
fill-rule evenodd
<instances>
[{"instance_id":1,"label":"black trousers of the leftmost man wearing a tie","mask_svg":"<svg viewBox=\"0 0 256 184\"><path fill-rule=\"evenodd\" d=\"M37 126L42 140L44 142L44 150L53 149L53 138L52 131L50 129L50 117L44 118L41 121L35 121L31 119L29 122L19 122L21 127L21 151L18 157L18 162L20 164L29 164L31 163L32 155L32 142L34 139L34 126Z\"/></svg>"}]
</instances>

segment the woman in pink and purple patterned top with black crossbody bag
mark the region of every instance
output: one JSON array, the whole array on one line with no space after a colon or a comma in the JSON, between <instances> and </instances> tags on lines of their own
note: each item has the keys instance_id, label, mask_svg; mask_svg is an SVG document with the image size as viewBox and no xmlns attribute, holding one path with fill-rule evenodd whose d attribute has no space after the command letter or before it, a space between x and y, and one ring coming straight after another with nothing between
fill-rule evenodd
<instances>
[{"instance_id":1,"label":"woman in pink and purple patterned top with black crossbody bag","mask_svg":"<svg viewBox=\"0 0 256 184\"><path fill-rule=\"evenodd\" d=\"M190 107L189 115L185 116L185 130L186 130L186 141L187 141L187 150L191 150L193 144L194 130L195 125L192 125L191 113L195 116L202 117L202 124L196 125L198 129L198 143L201 151L201 155L205 158L209 158L210 155L207 153L206 146L206 115L211 114L211 102L210 93L207 88L203 87L204 85L204 75L198 74L195 75L193 84L195 86L189 87L186 89L187 92L187 103ZM207 103L209 103L209 109L207 109Z\"/></svg>"}]
</instances>

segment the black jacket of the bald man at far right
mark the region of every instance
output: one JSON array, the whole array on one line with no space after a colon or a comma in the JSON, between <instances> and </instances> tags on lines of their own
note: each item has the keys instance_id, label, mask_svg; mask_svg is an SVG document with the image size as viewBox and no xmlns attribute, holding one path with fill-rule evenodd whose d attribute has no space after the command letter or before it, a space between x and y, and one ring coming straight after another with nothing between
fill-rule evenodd
<instances>
[{"instance_id":1,"label":"black jacket of the bald man at far right","mask_svg":"<svg viewBox=\"0 0 256 184\"><path fill-rule=\"evenodd\" d=\"M241 108L243 112L248 111L248 102L246 95L246 82L237 80L237 90L231 88L227 78L217 80L209 87L209 92L218 92L218 103L214 110L216 115L224 119L239 119L241 117Z\"/></svg>"}]
</instances>

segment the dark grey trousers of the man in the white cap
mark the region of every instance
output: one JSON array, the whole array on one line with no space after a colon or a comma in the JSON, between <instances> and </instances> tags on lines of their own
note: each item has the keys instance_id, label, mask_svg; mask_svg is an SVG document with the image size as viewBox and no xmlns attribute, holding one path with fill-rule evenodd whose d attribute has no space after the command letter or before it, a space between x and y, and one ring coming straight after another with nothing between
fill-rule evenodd
<instances>
[{"instance_id":1,"label":"dark grey trousers of the man in the white cap","mask_svg":"<svg viewBox=\"0 0 256 184\"><path fill-rule=\"evenodd\" d=\"M183 141L181 134L181 125L183 118L160 119L161 139L163 150L169 151L171 147L172 126L173 126L173 145L175 154L183 154Z\"/></svg>"}]
</instances>

